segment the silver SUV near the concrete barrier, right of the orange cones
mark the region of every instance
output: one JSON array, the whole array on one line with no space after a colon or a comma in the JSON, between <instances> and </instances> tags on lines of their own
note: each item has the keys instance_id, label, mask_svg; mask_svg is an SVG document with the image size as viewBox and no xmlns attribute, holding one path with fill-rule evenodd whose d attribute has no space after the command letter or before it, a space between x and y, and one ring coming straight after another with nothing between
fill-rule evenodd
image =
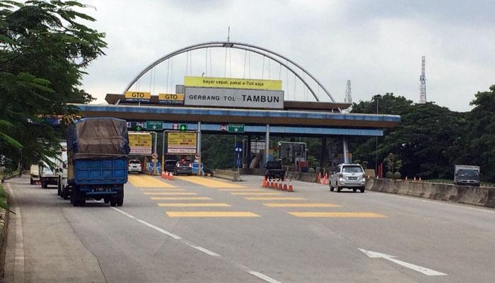
<instances>
[{"instance_id":1,"label":"silver SUV near the concrete barrier, right of the orange cones","mask_svg":"<svg viewBox=\"0 0 495 283\"><path fill-rule=\"evenodd\" d=\"M334 188L340 192L344 187L352 189L354 192L356 190L364 192L365 183L364 170L359 164L339 164L330 175L330 190L332 192Z\"/></svg>"}]
</instances>

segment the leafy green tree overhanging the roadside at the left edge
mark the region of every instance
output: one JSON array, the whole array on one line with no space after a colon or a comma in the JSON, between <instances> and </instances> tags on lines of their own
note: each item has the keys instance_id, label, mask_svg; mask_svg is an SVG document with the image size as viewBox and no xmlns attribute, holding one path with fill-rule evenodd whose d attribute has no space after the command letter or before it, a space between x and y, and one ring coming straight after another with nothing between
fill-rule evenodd
<instances>
[{"instance_id":1,"label":"leafy green tree overhanging the roadside at the left edge","mask_svg":"<svg viewBox=\"0 0 495 283\"><path fill-rule=\"evenodd\" d=\"M0 1L0 162L33 163L57 150L60 131L87 103L81 90L88 64L103 54L105 36L81 24L95 21L77 1ZM22 161L22 162L19 162Z\"/></svg>"}]
</instances>

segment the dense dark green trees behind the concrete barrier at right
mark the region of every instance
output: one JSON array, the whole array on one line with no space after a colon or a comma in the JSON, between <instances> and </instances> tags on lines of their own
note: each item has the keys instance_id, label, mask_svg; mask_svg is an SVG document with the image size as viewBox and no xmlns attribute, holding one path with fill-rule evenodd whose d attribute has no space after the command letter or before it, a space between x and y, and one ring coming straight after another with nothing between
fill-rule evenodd
<instances>
[{"instance_id":1,"label":"dense dark green trees behind the concrete barrier at right","mask_svg":"<svg viewBox=\"0 0 495 283\"><path fill-rule=\"evenodd\" d=\"M482 180L495 180L495 86L479 92L470 112L454 112L435 103L414 104L387 93L354 103L352 112L401 115L402 122L378 138L356 138L354 158L375 165L395 154L402 161L402 175L453 178L455 164L477 165ZM386 164L385 162L385 170Z\"/></svg>"}]
</instances>

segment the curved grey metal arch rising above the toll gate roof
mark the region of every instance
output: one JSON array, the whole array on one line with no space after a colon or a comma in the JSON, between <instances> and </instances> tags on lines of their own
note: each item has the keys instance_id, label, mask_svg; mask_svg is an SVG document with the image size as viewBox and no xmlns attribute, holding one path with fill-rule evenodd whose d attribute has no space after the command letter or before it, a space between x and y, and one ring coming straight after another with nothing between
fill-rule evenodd
<instances>
[{"instance_id":1,"label":"curved grey metal arch rising above the toll gate roof","mask_svg":"<svg viewBox=\"0 0 495 283\"><path fill-rule=\"evenodd\" d=\"M284 60L286 60L286 62L290 62L291 64L296 66L298 69L303 71L304 74L307 74L311 79L313 79L313 81L315 81L315 83L317 83L318 86L320 88L322 88L322 90L327 94L327 96L330 98L330 100L332 100L332 102L335 102L333 96L330 94L330 91L328 91L327 88L325 88L325 86L323 86L322 83L320 83L320 81L318 81L318 79L315 78L315 76L313 76L312 74L310 74L309 71L307 71L303 67L301 67L301 65L297 64L296 62L293 62L291 59L289 59L289 58L287 58L287 57L285 57L279 53L268 50L267 48L258 47L256 45L250 45L248 43L243 43L243 42L229 42L229 41L203 42L203 43L198 43L196 45L190 45L190 46L181 48L180 50L175 50L174 52L170 52L170 53L166 54L165 56L157 59L155 62L149 64L146 68L144 68L136 77L134 77L134 79L132 79L132 81L126 86L126 88L124 89L124 91L122 93L129 91L129 89L134 85L134 83L136 83L136 81L138 81L141 78L141 76L144 76L144 74L146 74L148 71L153 69L153 67L156 67L156 65L160 64L161 62L164 62L165 60L167 60L171 57L175 57L178 54L182 54L182 53L189 52L192 50L199 50L199 49L206 49L206 48L220 48L220 47L246 50L248 52L254 52L257 54L261 54L264 57L267 57L269 59L274 60L275 62L281 64L281 66L284 66L286 69L291 71L291 73L294 74L294 76L296 76L301 82L304 83L304 85L308 88L308 90L313 95L315 100L320 101L320 98L318 98L315 91L313 90L313 88L311 88L311 86L305 80L305 78L301 77L301 75L298 74L297 71L293 70L288 64L281 62L281 60L279 60L277 57L284 59Z\"/></svg>"}]
</instances>

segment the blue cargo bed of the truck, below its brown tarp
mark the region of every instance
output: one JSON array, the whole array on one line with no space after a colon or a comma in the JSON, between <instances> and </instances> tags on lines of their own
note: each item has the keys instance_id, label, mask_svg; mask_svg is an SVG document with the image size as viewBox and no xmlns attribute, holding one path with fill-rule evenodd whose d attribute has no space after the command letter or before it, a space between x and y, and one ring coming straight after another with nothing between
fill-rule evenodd
<instances>
[{"instance_id":1,"label":"blue cargo bed of the truck, below its brown tarp","mask_svg":"<svg viewBox=\"0 0 495 283\"><path fill-rule=\"evenodd\" d=\"M74 160L76 185L116 185L127 183L127 158Z\"/></svg>"}]
</instances>

